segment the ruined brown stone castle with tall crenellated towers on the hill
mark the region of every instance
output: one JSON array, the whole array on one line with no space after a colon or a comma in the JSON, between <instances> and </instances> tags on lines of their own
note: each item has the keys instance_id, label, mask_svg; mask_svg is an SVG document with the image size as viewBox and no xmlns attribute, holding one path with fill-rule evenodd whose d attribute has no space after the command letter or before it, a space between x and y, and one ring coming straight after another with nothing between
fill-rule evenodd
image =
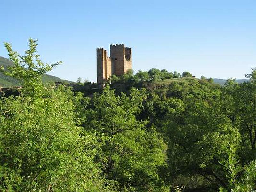
<instances>
[{"instance_id":1,"label":"ruined brown stone castle with tall crenellated towers on the hill","mask_svg":"<svg viewBox=\"0 0 256 192\"><path fill-rule=\"evenodd\" d=\"M110 45L110 57L103 48L97 48L97 83L104 84L110 76L120 76L132 69L132 51L124 44Z\"/></svg>"}]
</instances>

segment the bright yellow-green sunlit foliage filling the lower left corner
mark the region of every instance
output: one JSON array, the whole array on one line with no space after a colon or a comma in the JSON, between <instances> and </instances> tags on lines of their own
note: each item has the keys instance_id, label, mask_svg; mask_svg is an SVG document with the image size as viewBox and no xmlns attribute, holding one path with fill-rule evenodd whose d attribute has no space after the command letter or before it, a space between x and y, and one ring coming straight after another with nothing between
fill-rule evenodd
<instances>
[{"instance_id":1,"label":"bright yellow-green sunlit foliage filling the lower left corner","mask_svg":"<svg viewBox=\"0 0 256 192\"><path fill-rule=\"evenodd\" d=\"M1 100L2 190L105 190L100 166L93 162L100 144L76 126L71 97L60 86L33 101Z\"/></svg>"}]
</instances>

